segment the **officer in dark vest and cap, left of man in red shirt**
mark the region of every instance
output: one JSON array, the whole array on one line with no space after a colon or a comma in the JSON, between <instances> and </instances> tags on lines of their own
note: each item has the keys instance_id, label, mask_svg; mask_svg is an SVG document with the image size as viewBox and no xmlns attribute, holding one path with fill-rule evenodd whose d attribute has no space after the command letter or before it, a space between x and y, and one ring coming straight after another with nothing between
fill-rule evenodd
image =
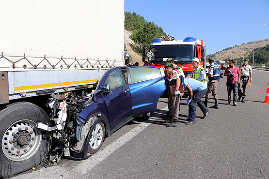
<instances>
[{"instance_id":1,"label":"officer in dark vest and cap, left of man in red shirt","mask_svg":"<svg viewBox=\"0 0 269 179\"><path fill-rule=\"evenodd\" d=\"M219 79L220 79L220 69L217 64L214 63L213 58L209 58L208 62L210 64L209 69L208 69L208 84L207 84L207 92L205 96L205 102L204 104L207 107L207 102L209 100L209 95L212 91L212 95L215 100L215 105L211 106L211 108L219 109L219 99L218 99L218 94L217 94L217 88L219 84Z\"/></svg>"}]
</instances>

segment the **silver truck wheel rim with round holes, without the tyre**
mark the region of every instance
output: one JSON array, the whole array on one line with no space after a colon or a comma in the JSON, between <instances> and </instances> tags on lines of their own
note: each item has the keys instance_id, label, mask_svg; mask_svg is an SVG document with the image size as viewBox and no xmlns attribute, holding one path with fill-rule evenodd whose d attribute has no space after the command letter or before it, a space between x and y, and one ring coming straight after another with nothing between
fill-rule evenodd
<instances>
[{"instance_id":1,"label":"silver truck wheel rim with round holes, without the tyre","mask_svg":"<svg viewBox=\"0 0 269 179\"><path fill-rule=\"evenodd\" d=\"M23 119L10 125L2 137L2 151L8 159L20 162L32 157L41 144L41 132L36 123Z\"/></svg>"}]
</instances>

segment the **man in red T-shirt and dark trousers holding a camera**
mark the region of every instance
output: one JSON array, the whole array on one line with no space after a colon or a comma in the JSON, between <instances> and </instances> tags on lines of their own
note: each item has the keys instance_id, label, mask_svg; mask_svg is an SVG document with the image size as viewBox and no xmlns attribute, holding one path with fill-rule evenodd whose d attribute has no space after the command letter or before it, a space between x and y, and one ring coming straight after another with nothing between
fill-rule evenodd
<instances>
[{"instance_id":1,"label":"man in red T-shirt and dark trousers holding a camera","mask_svg":"<svg viewBox=\"0 0 269 179\"><path fill-rule=\"evenodd\" d=\"M238 80L237 80L238 75ZM231 93L232 90L234 92L234 100L233 104L234 106L237 106L237 83L240 82L240 70L237 66L235 66L235 61L230 60L229 61L229 67L225 69L224 76L227 76L227 92L228 92L228 103L227 105L230 105L231 103Z\"/></svg>"}]
</instances>

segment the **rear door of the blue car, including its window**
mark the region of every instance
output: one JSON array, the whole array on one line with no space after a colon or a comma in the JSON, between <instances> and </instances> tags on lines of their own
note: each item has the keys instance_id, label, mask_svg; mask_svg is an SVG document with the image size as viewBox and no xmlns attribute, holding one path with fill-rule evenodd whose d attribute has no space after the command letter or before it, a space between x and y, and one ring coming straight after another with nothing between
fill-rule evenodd
<instances>
[{"instance_id":1,"label":"rear door of the blue car, including its window","mask_svg":"<svg viewBox=\"0 0 269 179\"><path fill-rule=\"evenodd\" d=\"M166 89L162 68L139 66L128 68L132 98L132 115L156 112L160 96Z\"/></svg>"}]
</instances>

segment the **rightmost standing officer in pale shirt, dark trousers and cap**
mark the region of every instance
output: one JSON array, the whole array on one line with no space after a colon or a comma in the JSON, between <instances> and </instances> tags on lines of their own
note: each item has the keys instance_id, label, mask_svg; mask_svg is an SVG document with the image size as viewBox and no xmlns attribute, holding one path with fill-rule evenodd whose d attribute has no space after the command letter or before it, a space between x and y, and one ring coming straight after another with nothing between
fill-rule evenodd
<instances>
[{"instance_id":1,"label":"rightmost standing officer in pale shirt, dark trousers and cap","mask_svg":"<svg viewBox=\"0 0 269 179\"><path fill-rule=\"evenodd\" d=\"M245 97L247 95L248 82L252 82L252 67L249 65L249 60L245 59L244 63L239 66L240 82L238 84L238 100L240 101L242 97L242 103L245 103Z\"/></svg>"}]
</instances>

